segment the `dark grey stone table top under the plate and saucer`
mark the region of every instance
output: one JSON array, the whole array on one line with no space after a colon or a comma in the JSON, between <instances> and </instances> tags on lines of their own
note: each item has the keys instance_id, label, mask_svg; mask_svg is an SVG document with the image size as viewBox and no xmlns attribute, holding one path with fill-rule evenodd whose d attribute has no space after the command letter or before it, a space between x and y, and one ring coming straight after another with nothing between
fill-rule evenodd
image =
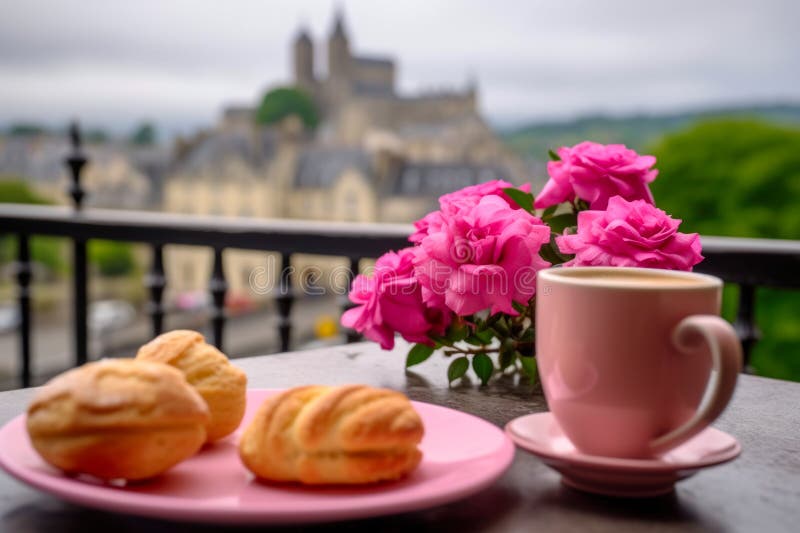
<instances>
[{"instance_id":1,"label":"dark grey stone table top under the plate and saucer","mask_svg":"<svg viewBox=\"0 0 800 533\"><path fill-rule=\"evenodd\" d=\"M237 359L252 388L308 383L366 383L401 390L499 427L547 409L540 391L501 376L481 387L448 386L448 360L434 355L409 370L408 345L392 352L370 343ZM0 392L0 423L22 413L33 389ZM800 383L742 376L715 427L735 436L742 455L677 484L674 493L630 500L563 486L536 457L517 450L497 483L471 497L418 512L282 530L348 531L798 531L800 524ZM120 515L62 502L0 474L0 530L26 532L219 531ZM263 527L259 529L264 529Z\"/></svg>"}]
</instances>

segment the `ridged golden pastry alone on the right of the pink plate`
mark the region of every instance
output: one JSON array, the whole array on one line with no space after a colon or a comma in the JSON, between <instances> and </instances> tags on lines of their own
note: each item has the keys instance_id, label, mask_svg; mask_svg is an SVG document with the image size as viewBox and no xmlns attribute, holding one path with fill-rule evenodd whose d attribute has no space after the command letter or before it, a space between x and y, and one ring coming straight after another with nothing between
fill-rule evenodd
<instances>
[{"instance_id":1,"label":"ridged golden pastry alone on the right of the pink plate","mask_svg":"<svg viewBox=\"0 0 800 533\"><path fill-rule=\"evenodd\" d=\"M372 483L413 470L423 432L399 392L311 385L267 398L242 435L239 455L264 479Z\"/></svg>"}]
</instances>

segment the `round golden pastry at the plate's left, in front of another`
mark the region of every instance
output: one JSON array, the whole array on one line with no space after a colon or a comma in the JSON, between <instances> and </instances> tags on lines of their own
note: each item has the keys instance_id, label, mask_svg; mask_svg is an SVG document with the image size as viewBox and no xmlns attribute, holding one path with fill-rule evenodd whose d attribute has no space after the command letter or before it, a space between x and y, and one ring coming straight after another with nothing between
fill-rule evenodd
<instances>
[{"instance_id":1,"label":"round golden pastry at the plate's left, in front of another","mask_svg":"<svg viewBox=\"0 0 800 533\"><path fill-rule=\"evenodd\" d=\"M174 368L108 359L49 381L28 407L27 428L53 466L137 480L196 453L208 419L206 403Z\"/></svg>"}]
</instances>

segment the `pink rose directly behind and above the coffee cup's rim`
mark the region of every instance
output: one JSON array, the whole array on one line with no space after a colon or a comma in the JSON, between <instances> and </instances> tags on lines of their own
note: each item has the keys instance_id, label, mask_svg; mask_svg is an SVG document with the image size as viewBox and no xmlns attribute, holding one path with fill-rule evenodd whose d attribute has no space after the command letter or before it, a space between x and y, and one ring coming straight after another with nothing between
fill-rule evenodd
<instances>
[{"instance_id":1,"label":"pink rose directly behind and above the coffee cup's rim","mask_svg":"<svg viewBox=\"0 0 800 533\"><path fill-rule=\"evenodd\" d=\"M575 254L564 266L638 266L691 270L703 260L700 236L679 233L681 221L644 200L620 196L606 211L578 213L578 232L556 238L562 253Z\"/></svg>"}]
</instances>

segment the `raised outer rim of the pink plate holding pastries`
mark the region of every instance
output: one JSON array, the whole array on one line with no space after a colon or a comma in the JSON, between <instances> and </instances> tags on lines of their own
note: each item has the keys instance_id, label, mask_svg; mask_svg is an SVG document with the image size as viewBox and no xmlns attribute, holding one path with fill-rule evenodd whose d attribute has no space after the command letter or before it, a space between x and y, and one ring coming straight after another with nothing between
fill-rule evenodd
<instances>
[{"instance_id":1,"label":"raised outer rim of the pink plate holding pastries","mask_svg":"<svg viewBox=\"0 0 800 533\"><path fill-rule=\"evenodd\" d=\"M250 394L275 394L290 387L284 388L248 388L248 396ZM81 482L79 480L71 479L61 473L54 472L50 475L41 471L32 471L30 468L15 463L3 446L9 434L14 431L21 431L27 438L27 431L24 429L26 413L21 413L0 427L0 467L11 475L14 479L21 483L36 488L37 490L56 497L58 499L97 509L106 512L126 513L130 515L158 518L173 522L213 522L216 524L264 524L264 525L278 525L278 524L311 524L320 522L335 522L348 519L359 519L376 516L385 516L391 514L398 514L409 511L423 510L445 503L453 502L478 493L488 486L494 484L503 474L505 474L511 463L514 460L516 446L507 432L502 428L496 426L492 422L473 415L464 411L459 411L451 407L438 405L429 402L421 402L411 400L412 404L423 406L424 409L441 409L454 414L459 417L467 417L474 419L478 423L485 424L487 427L495 430L502 437L501 443L494 450L491 455L483 457L495 457L497 460L494 468L482 471L482 474L475 476L474 479L468 480L466 483L458 486L453 490L439 491L436 494L422 494L412 498L405 498L399 501L379 501L374 503L367 503L367 506L357 504L349 505L343 508L330 507L323 509L306 509L303 511L302 516L298 517L296 509L280 510L280 509L263 509L245 507L240 509L224 509L219 507L201 507L198 508L197 500L191 498L179 498L176 496L167 495L149 495L147 493L136 492L139 497L153 498L158 503L161 500L162 505L155 505L153 502L142 502L139 498L133 500L125 500L122 498L112 497L108 499L108 491L116 494L116 491L123 490L122 488L104 485L91 485ZM20 427L23 426L23 427ZM239 429L237 428L237 431ZM32 449L30 442L26 442L24 446ZM38 454L37 454L38 455ZM481 459L476 457L475 459ZM423 461L425 460L423 455ZM53 468L48 465L44 460L42 464L48 468ZM242 466L244 468L244 466ZM55 470L55 469L54 469ZM26 474L32 475L26 475ZM80 483L84 490L71 492L70 487L74 488L75 483ZM298 485L292 485L296 488ZM279 488L279 486L270 486L271 488ZM374 493L368 493L368 495ZM351 497L357 498L357 495ZM166 502L165 502L166 499ZM170 505L169 507L166 503ZM194 505L194 507L192 507Z\"/></svg>"}]
</instances>

